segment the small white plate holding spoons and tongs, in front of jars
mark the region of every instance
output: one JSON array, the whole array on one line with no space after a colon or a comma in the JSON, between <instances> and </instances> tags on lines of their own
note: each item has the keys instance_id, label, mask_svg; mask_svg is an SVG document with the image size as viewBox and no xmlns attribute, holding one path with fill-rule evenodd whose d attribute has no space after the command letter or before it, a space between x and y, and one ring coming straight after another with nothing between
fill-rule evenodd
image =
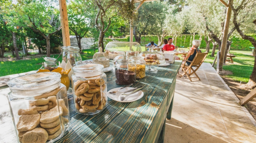
<instances>
[{"instance_id":1,"label":"small white plate holding spoons and tongs, in front of jars","mask_svg":"<svg viewBox=\"0 0 256 143\"><path fill-rule=\"evenodd\" d=\"M126 97L126 99L124 101L121 101L120 97L117 98L116 95L109 94L109 92L118 91L120 88L122 88L122 87L111 89L110 91L107 92L107 96L110 99L112 99L114 101L117 101L117 102L133 102L133 101L141 99L144 96L144 93L140 90L139 92L136 92L136 93L131 94L128 97ZM127 88L121 89L121 92L125 92L125 91L130 90L130 89L133 89L133 88L132 87L127 87Z\"/></svg>"}]
</instances>

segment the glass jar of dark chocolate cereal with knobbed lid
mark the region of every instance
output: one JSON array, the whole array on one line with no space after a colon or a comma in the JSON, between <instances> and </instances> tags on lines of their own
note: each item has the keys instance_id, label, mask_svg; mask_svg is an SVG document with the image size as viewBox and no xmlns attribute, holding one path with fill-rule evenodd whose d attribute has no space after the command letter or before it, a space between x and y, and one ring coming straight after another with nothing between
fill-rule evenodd
<instances>
[{"instance_id":1,"label":"glass jar of dark chocolate cereal with knobbed lid","mask_svg":"<svg viewBox=\"0 0 256 143\"><path fill-rule=\"evenodd\" d=\"M124 58L117 60L115 64L115 77L116 84L119 85L129 85L136 82L136 64L134 64L134 59L128 58L127 51Z\"/></svg>"}]
</instances>

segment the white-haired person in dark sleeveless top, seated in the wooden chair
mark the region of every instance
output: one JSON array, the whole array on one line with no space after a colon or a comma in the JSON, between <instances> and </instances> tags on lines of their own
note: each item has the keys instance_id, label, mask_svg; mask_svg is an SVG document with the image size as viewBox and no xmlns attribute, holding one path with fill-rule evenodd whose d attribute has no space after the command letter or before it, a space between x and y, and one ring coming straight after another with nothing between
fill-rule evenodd
<instances>
[{"instance_id":1,"label":"white-haired person in dark sleeveless top, seated in the wooden chair","mask_svg":"<svg viewBox=\"0 0 256 143\"><path fill-rule=\"evenodd\" d=\"M185 59L185 60L188 60L188 61L193 61L196 53L201 53L201 50L198 49L198 47L200 46L201 44L201 41L200 40L193 40L192 41L192 48L191 50L189 51L189 54L187 56L185 55L182 55L182 57ZM183 61L182 64L185 64L186 66L189 66L191 64L191 62L188 62L188 61Z\"/></svg>"}]
</instances>

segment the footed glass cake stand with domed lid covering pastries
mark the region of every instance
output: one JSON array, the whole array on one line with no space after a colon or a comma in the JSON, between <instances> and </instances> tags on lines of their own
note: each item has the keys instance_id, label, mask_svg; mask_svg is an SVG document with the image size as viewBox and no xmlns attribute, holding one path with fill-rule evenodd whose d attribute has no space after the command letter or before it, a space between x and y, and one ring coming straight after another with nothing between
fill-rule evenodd
<instances>
[{"instance_id":1,"label":"footed glass cake stand with domed lid covering pastries","mask_svg":"<svg viewBox=\"0 0 256 143\"><path fill-rule=\"evenodd\" d=\"M149 50L141 52L139 55L145 57L146 65L148 66L146 72L157 72L157 69L153 69L151 66L166 64L164 55L153 50L152 47L149 47Z\"/></svg>"}]
</instances>

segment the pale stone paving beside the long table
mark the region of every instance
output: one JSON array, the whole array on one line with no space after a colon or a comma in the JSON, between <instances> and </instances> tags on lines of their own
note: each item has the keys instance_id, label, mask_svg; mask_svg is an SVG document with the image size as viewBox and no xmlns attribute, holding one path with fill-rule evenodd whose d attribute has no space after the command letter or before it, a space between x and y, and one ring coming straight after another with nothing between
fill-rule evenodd
<instances>
[{"instance_id":1,"label":"pale stone paving beside the long table","mask_svg":"<svg viewBox=\"0 0 256 143\"><path fill-rule=\"evenodd\" d=\"M238 104L216 70L203 63L196 73L201 81L177 76L172 119L166 120L164 142L256 143L255 120Z\"/></svg>"}]
</instances>

